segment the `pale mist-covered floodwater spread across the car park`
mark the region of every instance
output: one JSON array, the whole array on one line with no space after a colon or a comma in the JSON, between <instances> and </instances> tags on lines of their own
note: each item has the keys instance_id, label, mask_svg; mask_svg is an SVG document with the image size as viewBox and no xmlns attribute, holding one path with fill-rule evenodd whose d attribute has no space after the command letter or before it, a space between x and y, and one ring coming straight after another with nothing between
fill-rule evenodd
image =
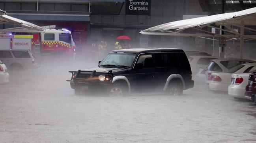
<instances>
[{"instance_id":1,"label":"pale mist-covered floodwater spread across the car park","mask_svg":"<svg viewBox=\"0 0 256 143\"><path fill-rule=\"evenodd\" d=\"M0 85L1 143L255 143L256 106L197 87L182 96L74 94L68 71L97 62L40 59Z\"/></svg>"}]
</instances>

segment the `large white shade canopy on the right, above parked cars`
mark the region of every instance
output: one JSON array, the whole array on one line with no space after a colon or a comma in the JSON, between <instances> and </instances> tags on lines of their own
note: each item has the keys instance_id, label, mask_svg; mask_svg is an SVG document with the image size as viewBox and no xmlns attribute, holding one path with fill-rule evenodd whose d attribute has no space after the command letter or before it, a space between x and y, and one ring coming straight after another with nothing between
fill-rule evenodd
<instances>
[{"instance_id":1,"label":"large white shade canopy on the right, above parked cars","mask_svg":"<svg viewBox=\"0 0 256 143\"><path fill-rule=\"evenodd\" d=\"M225 27L225 34L220 35L211 33L210 31L203 30L203 27L211 27L220 30L217 25ZM238 11L234 13L223 13L211 16L204 16L186 20L179 20L169 22L166 24L157 25L149 29L143 30L141 34L149 35L170 35L170 36L200 36L212 37L219 36L228 39L239 40L238 38L245 38L246 40L256 40L256 29L245 27L245 25L256 25L256 7ZM197 29L200 33L185 33L185 29ZM250 32L251 35L244 35L238 33L235 29L244 29ZM181 32L182 31L182 32ZM240 30L241 31L241 30Z\"/></svg>"}]
</instances>

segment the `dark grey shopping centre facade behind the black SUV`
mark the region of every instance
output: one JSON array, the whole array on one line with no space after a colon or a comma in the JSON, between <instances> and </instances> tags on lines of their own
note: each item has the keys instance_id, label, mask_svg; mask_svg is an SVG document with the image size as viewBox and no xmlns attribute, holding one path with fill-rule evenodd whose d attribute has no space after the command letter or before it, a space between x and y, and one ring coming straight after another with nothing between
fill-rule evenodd
<instances>
[{"instance_id":1,"label":"dark grey shopping centre facade behind the black SUV","mask_svg":"<svg viewBox=\"0 0 256 143\"><path fill-rule=\"evenodd\" d=\"M126 35L131 40L119 42L129 43L132 48L173 47L218 56L219 43L212 40L139 33L156 25L213 14L203 11L200 0L1 0L0 9L40 26L69 29L77 51L83 54L90 54L102 41L107 43L106 51L111 51L118 41L116 37ZM13 25L0 25L0 29L10 27ZM235 58L237 45L227 43L227 57Z\"/></svg>"}]
</instances>

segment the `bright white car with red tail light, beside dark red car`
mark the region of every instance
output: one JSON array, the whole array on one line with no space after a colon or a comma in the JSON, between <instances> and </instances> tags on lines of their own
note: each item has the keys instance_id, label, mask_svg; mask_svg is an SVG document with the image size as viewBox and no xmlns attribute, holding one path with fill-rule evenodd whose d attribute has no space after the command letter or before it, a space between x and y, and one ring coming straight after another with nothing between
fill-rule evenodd
<instances>
[{"instance_id":1,"label":"bright white car with red tail light, beside dark red car","mask_svg":"<svg viewBox=\"0 0 256 143\"><path fill-rule=\"evenodd\" d=\"M231 84L228 86L228 94L234 98L245 98L245 87L248 85L249 76L256 71L256 66L249 72L232 74Z\"/></svg>"}]
</instances>

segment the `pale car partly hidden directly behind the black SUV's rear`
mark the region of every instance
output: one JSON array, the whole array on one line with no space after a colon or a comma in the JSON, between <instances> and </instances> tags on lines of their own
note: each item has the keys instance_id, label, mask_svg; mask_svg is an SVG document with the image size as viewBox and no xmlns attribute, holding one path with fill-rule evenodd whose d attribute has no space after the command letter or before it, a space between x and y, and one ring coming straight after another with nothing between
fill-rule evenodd
<instances>
[{"instance_id":1,"label":"pale car partly hidden directly behind the black SUV's rear","mask_svg":"<svg viewBox=\"0 0 256 143\"><path fill-rule=\"evenodd\" d=\"M206 68L211 60L216 59L218 57L214 56L189 56L189 64L192 71L192 80L194 80L194 77L198 70L200 68Z\"/></svg>"}]
</instances>

